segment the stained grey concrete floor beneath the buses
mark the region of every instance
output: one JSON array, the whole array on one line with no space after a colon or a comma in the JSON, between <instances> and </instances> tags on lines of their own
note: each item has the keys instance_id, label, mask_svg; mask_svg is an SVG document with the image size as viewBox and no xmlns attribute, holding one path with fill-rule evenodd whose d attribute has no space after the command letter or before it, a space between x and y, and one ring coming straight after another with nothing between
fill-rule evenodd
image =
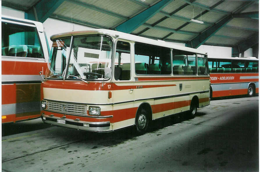
<instances>
[{"instance_id":1,"label":"stained grey concrete floor beneath the buses","mask_svg":"<svg viewBox=\"0 0 260 172\"><path fill-rule=\"evenodd\" d=\"M183 116L154 121L142 136L40 119L3 125L2 171L259 171L258 96L211 101L194 119Z\"/></svg>"}]
</instances>

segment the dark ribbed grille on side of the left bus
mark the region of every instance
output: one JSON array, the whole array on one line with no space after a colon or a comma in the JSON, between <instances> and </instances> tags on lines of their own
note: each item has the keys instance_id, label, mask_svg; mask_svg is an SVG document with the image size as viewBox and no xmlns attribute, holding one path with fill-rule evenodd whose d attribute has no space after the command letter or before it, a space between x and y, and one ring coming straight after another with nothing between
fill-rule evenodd
<instances>
[{"instance_id":1,"label":"dark ribbed grille on side of the left bus","mask_svg":"<svg viewBox=\"0 0 260 172\"><path fill-rule=\"evenodd\" d=\"M40 115L41 84L16 84L15 117Z\"/></svg>"}]
</instances>

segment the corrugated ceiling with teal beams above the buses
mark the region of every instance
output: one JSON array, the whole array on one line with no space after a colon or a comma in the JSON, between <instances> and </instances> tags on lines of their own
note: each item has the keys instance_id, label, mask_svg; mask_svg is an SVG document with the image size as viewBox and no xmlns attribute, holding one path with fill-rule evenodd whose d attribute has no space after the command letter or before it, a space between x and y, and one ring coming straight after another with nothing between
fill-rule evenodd
<instances>
[{"instance_id":1,"label":"corrugated ceiling with teal beams above the buses","mask_svg":"<svg viewBox=\"0 0 260 172\"><path fill-rule=\"evenodd\" d=\"M47 15L84 26L121 29L144 37L182 42L195 48L202 44L233 47L259 34L258 0L62 1L2 0L2 6L30 13L28 16L36 11L42 22ZM191 22L193 18L204 23ZM127 25L120 27L124 22Z\"/></svg>"}]
</instances>

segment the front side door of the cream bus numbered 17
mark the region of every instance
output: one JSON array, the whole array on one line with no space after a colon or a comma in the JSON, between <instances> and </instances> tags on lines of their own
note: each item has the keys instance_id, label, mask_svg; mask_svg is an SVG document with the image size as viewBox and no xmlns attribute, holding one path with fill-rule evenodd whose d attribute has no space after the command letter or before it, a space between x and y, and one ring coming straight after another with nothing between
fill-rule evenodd
<instances>
[{"instance_id":1,"label":"front side door of the cream bus numbered 17","mask_svg":"<svg viewBox=\"0 0 260 172\"><path fill-rule=\"evenodd\" d=\"M134 124L136 110L134 106L135 86L131 81L130 43L117 41L114 59L113 84L113 129Z\"/></svg>"}]
</instances>

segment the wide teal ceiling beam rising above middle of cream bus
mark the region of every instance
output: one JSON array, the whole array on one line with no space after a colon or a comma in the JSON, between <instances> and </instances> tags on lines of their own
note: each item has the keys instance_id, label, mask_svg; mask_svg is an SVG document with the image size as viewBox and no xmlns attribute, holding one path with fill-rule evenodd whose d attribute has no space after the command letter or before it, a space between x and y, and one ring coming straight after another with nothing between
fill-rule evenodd
<instances>
[{"instance_id":1,"label":"wide teal ceiling beam rising above middle of cream bus","mask_svg":"<svg viewBox=\"0 0 260 172\"><path fill-rule=\"evenodd\" d=\"M153 6L147 8L143 12L139 13L138 15L132 17L131 19L127 20L126 22L120 24L115 29L117 31L131 33L140 25L145 23L151 17L153 17L156 13L158 13L161 9L163 9L166 5L171 3L173 0L162 0Z\"/></svg>"}]
</instances>

